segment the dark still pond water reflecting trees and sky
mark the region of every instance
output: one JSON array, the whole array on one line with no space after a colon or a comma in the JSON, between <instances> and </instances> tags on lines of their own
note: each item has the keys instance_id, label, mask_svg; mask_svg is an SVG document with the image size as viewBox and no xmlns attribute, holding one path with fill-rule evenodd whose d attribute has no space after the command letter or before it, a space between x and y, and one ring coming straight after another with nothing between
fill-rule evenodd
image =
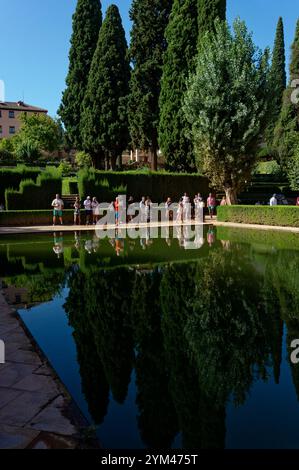
<instances>
[{"instance_id":1,"label":"dark still pond water reflecting trees and sky","mask_svg":"<svg viewBox=\"0 0 299 470\"><path fill-rule=\"evenodd\" d=\"M299 448L299 236L0 238L10 300L106 448Z\"/></svg>"}]
</instances>

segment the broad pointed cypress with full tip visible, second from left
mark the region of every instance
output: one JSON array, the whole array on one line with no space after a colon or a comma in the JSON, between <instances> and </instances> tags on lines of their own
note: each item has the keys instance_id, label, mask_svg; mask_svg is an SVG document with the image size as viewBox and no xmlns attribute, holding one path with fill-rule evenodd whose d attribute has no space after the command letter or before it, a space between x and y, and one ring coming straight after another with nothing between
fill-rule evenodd
<instances>
[{"instance_id":1,"label":"broad pointed cypress with full tip visible, second from left","mask_svg":"<svg viewBox=\"0 0 299 470\"><path fill-rule=\"evenodd\" d=\"M96 166L105 159L115 168L128 136L126 99L130 65L117 6L111 5L101 28L83 103L82 139Z\"/></svg>"}]
</instances>

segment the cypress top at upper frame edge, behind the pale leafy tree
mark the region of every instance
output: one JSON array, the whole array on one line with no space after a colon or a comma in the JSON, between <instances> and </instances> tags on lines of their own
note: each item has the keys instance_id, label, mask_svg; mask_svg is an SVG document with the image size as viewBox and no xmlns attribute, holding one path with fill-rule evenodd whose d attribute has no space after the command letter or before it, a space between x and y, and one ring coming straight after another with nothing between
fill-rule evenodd
<instances>
[{"instance_id":1,"label":"cypress top at upper frame edge, behind the pale leafy tree","mask_svg":"<svg viewBox=\"0 0 299 470\"><path fill-rule=\"evenodd\" d=\"M226 0L198 0L198 40L202 34L214 30L215 19L226 19Z\"/></svg>"}]
</instances>

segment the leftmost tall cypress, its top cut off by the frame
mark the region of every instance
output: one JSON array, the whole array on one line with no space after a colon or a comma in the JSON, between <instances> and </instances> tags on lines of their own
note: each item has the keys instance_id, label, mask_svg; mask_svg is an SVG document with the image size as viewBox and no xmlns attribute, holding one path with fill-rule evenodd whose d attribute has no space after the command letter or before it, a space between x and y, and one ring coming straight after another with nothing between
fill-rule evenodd
<instances>
[{"instance_id":1,"label":"leftmost tall cypress, its top cut off by the frame","mask_svg":"<svg viewBox=\"0 0 299 470\"><path fill-rule=\"evenodd\" d=\"M80 120L88 74L102 24L100 0L78 0L73 15L66 89L58 110L70 144L81 148Z\"/></svg>"}]
</instances>

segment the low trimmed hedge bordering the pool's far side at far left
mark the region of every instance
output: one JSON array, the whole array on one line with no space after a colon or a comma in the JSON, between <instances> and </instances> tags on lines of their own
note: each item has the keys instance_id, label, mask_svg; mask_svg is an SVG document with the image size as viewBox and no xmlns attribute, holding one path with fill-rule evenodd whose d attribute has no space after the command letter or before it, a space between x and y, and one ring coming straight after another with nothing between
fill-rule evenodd
<instances>
[{"instance_id":1,"label":"low trimmed hedge bordering the pool's far side at far left","mask_svg":"<svg viewBox=\"0 0 299 470\"><path fill-rule=\"evenodd\" d=\"M74 221L74 211L63 211L63 222L72 224ZM53 211L3 211L0 212L0 226L3 227L30 227L35 225L52 225ZM59 225L57 225L59 230Z\"/></svg>"}]
</instances>

